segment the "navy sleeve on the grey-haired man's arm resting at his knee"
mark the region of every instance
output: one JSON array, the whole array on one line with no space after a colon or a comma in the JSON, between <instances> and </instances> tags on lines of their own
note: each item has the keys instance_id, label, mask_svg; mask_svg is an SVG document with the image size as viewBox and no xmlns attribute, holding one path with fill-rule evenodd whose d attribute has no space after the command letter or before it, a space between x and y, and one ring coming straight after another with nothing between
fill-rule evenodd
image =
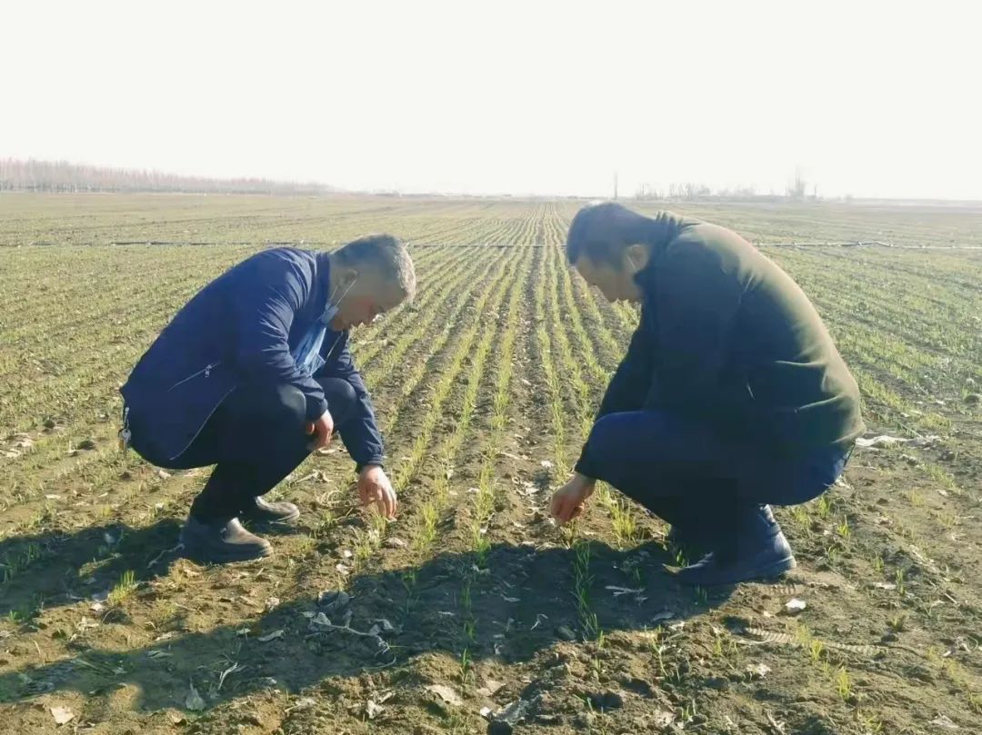
<instances>
[{"instance_id":1,"label":"navy sleeve on the grey-haired man's arm resting at his knee","mask_svg":"<svg viewBox=\"0 0 982 735\"><path fill-rule=\"evenodd\" d=\"M297 262L270 254L232 290L236 327L235 365L246 380L289 384L306 397L306 420L327 410L324 391L290 354L290 326L312 286L313 274Z\"/></svg>"}]
</instances>

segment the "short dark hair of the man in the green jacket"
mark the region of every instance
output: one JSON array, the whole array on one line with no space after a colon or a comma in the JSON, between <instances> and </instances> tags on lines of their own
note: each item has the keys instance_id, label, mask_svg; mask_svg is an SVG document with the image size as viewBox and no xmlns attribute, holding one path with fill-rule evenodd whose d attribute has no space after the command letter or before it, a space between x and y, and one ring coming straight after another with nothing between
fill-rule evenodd
<instances>
[{"instance_id":1,"label":"short dark hair of the man in the green jacket","mask_svg":"<svg viewBox=\"0 0 982 735\"><path fill-rule=\"evenodd\" d=\"M570 225L566 256L571 263L586 255L594 263L621 267L621 252L627 245L646 244L655 221L616 202L583 207Z\"/></svg>"}]
</instances>

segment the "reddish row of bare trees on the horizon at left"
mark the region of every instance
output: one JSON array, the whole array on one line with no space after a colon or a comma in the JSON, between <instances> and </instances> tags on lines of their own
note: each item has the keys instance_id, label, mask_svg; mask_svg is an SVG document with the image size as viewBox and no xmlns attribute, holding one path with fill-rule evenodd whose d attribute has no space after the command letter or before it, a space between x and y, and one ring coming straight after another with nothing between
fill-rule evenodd
<instances>
[{"instance_id":1,"label":"reddish row of bare trees on the horizon at left","mask_svg":"<svg viewBox=\"0 0 982 735\"><path fill-rule=\"evenodd\" d=\"M107 169L67 161L0 158L0 191L161 191L236 194L324 194L326 184L268 179L207 179L159 171Z\"/></svg>"}]
</instances>

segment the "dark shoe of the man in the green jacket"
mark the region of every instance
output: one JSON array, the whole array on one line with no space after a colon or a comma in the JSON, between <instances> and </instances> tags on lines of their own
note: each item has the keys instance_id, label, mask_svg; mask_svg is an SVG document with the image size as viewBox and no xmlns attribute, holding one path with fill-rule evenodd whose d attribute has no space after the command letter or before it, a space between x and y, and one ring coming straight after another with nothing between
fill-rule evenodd
<instances>
[{"instance_id":1,"label":"dark shoe of the man in the green jacket","mask_svg":"<svg viewBox=\"0 0 982 735\"><path fill-rule=\"evenodd\" d=\"M796 566L791 545L771 508L755 508L739 527L736 545L707 553L680 569L677 579L686 585L713 587L752 580L774 579Z\"/></svg>"}]
</instances>

